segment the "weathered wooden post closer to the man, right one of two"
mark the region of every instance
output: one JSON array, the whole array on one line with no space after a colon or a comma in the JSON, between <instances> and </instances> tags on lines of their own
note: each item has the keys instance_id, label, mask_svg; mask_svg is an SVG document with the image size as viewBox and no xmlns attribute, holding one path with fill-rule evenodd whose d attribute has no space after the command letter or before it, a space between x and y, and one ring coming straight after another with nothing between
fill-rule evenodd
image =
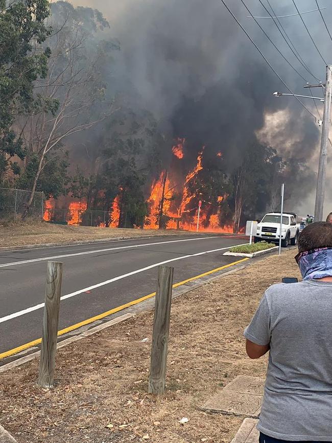
<instances>
[{"instance_id":1,"label":"weathered wooden post closer to the man, right one of two","mask_svg":"<svg viewBox=\"0 0 332 443\"><path fill-rule=\"evenodd\" d=\"M154 395L165 390L173 273L172 267L158 268L149 377L149 393Z\"/></svg>"}]
</instances>

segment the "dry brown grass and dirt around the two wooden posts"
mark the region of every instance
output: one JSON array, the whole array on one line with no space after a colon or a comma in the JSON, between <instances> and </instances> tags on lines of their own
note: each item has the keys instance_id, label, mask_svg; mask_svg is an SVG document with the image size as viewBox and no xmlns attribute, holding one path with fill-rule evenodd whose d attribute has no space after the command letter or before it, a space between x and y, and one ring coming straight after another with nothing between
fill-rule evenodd
<instances>
[{"instance_id":1,"label":"dry brown grass and dirt around the two wooden posts","mask_svg":"<svg viewBox=\"0 0 332 443\"><path fill-rule=\"evenodd\" d=\"M264 290L299 276L295 253L253 262L174 300L162 398L147 394L151 311L60 349L52 390L36 386L37 361L2 374L0 423L19 443L229 442L242 418L199 407L240 374L265 375L266 358L249 360L242 334Z\"/></svg>"}]
</instances>

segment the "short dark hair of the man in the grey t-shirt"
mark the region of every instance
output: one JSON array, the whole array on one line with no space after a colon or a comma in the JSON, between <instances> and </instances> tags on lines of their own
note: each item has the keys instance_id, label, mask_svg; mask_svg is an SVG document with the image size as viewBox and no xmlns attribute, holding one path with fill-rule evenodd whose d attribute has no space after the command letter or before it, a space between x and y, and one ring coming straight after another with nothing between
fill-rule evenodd
<instances>
[{"instance_id":1,"label":"short dark hair of the man in the grey t-shirt","mask_svg":"<svg viewBox=\"0 0 332 443\"><path fill-rule=\"evenodd\" d=\"M316 222L306 226L299 236L299 252L332 248L332 223Z\"/></svg>"}]
</instances>

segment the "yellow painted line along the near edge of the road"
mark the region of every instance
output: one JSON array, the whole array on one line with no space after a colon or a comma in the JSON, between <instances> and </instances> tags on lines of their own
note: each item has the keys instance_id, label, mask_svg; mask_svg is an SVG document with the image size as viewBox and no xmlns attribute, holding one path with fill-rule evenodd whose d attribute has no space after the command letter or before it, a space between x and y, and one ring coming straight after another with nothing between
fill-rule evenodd
<instances>
[{"instance_id":1,"label":"yellow painted line along the near edge of the road","mask_svg":"<svg viewBox=\"0 0 332 443\"><path fill-rule=\"evenodd\" d=\"M214 274L215 272L222 271L223 269L227 269L231 266L238 265L239 263L246 262L249 259L242 259L238 260L237 262L229 263L228 265L221 266L220 268L212 269L211 271L204 272L203 274L196 275L195 277L187 278L186 280L183 280L182 282L175 283L173 285L173 288L177 288L181 285L185 285L188 282L192 282L193 280L197 280L198 278L205 277L206 275ZM148 300L149 298L152 298L156 295L155 292L152 292L151 294L145 295L144 297L137 298L136 300L129 301L125 305L117 306L116 308L110 309L109 311L103 312L102 314L96 315L94 317L88 318L86 320L80 321L79 323L72 324L71 326L68 326L68 328L64 328L61 331L58 332L58 337L60 337L63 334L66 334L67 332L74 331L75 329L81 328L82 326L85 326L87 324L93 323L94 321L101 320L102 318L108 317L109 315L115 314L116 312L122 311L123 309L130 308L131 306L137 305L141 301ZM6 357L10 357L14 354L17 354L19 352L25 351L26 349L29 349L29 347L36 346L37 344L41 343L41 338L38 338L37 340L30 341L29 343L22 344L21 346L14 347L13 349L9 349L9 351L3 352L0 354L0 360Z\"/></svg>"}]
</instances>

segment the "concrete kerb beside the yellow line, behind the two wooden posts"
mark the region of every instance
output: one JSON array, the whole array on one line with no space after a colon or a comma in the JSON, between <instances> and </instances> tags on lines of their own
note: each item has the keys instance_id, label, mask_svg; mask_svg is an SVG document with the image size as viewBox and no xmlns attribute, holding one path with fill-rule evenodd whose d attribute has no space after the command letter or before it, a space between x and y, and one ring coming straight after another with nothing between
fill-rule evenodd
<instances>
[{"instance_id":1,"label":"concrete kerb beside the yellow line, behind the two wooden posts","mask_svg":"<svg viewBox=\"0 0 332 443\"><path fill-rule=\"evenodd\" d=\"M175 288L173 290L172 299L177 298L180 295L183 295L189 291L193 291L194 289L200 288L203 285L209 284L218 278L232 274L234 272L238 272L241 269L244 269L246 266L247 265L242 265L242 264L235 265L234 268L231 269L230 271L226 271L226 272L218 271L215 274L213 274L212 277L208 275L206 277L198 278L197 280L195 280L193 282L188 282L188 283L186 283L178 288ZM67 337L67 338L65 338L64 340L58 341L57 349L60 349L68 344L72 344L72 343L74 343L78 340L81 340L85 337L88 337L90 335L96 334L106 328L113 326L114 324L121 323L122 321L126 321L130 318L133 318L138 313L148 312L148 311L154 309L154 302L155 302L155 297L152 297L148 300L141 301L139 304L137 304L135 306L132 306L130 308L126 308L124 311L121 311L120 313L113 314L109 317L105 317L103 320L97 320L94 323L91 323L87 326L83 326L82 328L79 328L75 331L65 334L62 337ZM125 314L121 314L122 312L125 312ZM32 347L32 348L27 349L26 351L23 351L20 354L16 354L16 357L17 357L18 355L27 354L30 352L30 354L28 354L28 355L25 355L25 356L20 357L16 360L13 360L9 363L6 363L3 366L0 366L0 374L2 374L3 372L5 372L7 370L18 367L22 364L25 364L25 363L39 357L40 351L39 350L37 351L36 349L38 349L38 347ZM34 351L34 352L31 353L31 351ZM11 358L11 357L8 357L8 358ZM13 356L13 358L15 358L15 356Z\"/></svg>"}]
</instances>

